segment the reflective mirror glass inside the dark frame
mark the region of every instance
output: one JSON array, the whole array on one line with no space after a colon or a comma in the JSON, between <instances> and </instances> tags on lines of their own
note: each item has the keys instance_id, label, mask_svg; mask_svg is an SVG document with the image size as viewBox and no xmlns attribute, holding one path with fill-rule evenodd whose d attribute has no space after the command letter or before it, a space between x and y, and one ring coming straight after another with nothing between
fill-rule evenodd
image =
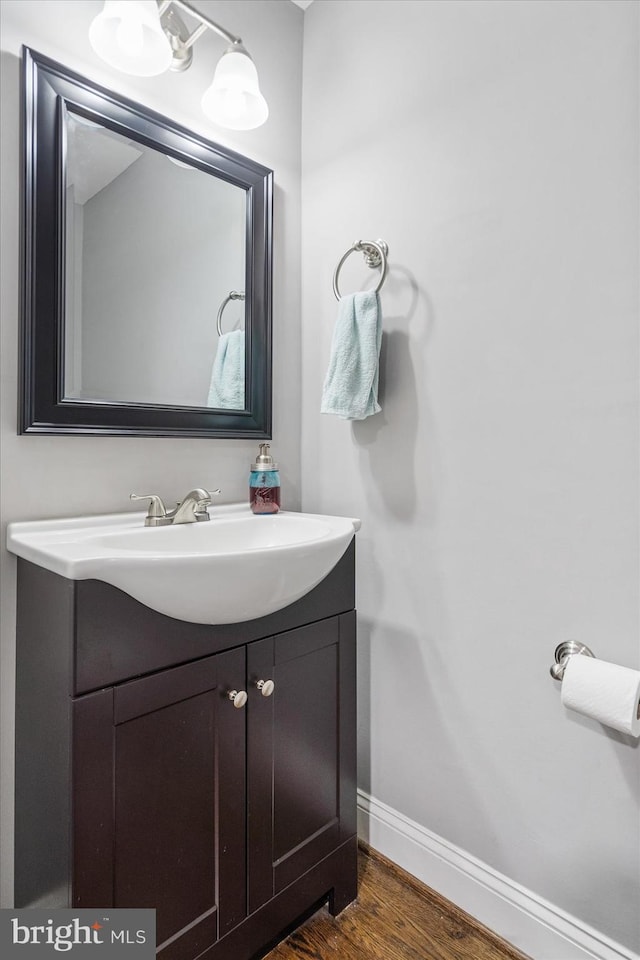
<instances>
[{"instance_id":1,"label":"reflective mirror glass inside the dark frame","mask_svg":"<svg viewBox=\"0 0 640 960\"><path fill-rule=\"evenodd\" d=\"M244 410L246 190L65 126L64 399Z\"/></svg>"}]
</instances>

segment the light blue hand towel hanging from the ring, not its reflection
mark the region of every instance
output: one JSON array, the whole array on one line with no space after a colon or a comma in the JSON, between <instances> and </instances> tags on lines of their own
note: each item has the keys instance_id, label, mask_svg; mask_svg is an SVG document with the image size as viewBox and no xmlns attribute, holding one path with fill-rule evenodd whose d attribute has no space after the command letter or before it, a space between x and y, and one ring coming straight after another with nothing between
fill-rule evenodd
<instances>
[{"instance_id":1,"label":"light blue hand towel hanging from the ring, not its reflection","mask_svg":"<svg viewBox=\"0 0 640 960\"><path fill-rule=\"evenodd\" d=\"M378 403L378 358L382 341L380 297L371 290L340 297L321 413L364 420Z\"/></svg>"}]
</instances>

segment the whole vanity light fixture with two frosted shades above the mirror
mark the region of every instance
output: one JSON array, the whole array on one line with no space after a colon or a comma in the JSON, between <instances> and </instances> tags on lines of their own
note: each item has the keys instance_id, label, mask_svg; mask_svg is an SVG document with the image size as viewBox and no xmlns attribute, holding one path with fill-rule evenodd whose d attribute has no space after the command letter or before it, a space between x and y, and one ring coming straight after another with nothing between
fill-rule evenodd
<instances>
[{"instance_id":1,"label":"whole vanity light fixture with two frosted shades above the mirror","mask_svg":"<svg viewBox=\"0 0 640 960\"><path fill-rule=\"evenodd\" d=\"M189 32L177 13L199 21ZM89 28L91 46L109 66L139 77L186 70L196 40L213 30L229 46L213 82L202 96L205 116L230 130L253 130L269 116L258 73L240 37L234 36L184 0L106 0Z\"/></svg>"}]
</instances>

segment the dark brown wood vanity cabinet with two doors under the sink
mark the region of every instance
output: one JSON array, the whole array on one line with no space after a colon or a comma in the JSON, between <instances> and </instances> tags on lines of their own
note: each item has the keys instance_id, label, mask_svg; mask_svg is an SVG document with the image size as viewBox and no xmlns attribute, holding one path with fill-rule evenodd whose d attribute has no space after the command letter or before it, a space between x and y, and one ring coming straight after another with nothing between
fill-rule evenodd
<instances>
[{"instance_id":1,"label":"dark brown wood vanity cabinet with two doors under the sink","mask_svg":"<svg viewBox=\"0 0 640 960\"><path fill-rule=\"evenodd\" d=\"M154 907L163 960L249 960L355 898L353 552L224 627L19 561L16 906Z\"/></svg>"}]
</instances>

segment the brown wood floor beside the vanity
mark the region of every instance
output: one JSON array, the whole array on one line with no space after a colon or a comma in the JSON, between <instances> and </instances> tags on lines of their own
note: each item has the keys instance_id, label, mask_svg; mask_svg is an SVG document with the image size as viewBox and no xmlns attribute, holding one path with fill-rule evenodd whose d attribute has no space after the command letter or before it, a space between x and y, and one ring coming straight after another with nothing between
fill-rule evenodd
<instances>
[{"instance_id":1,"label":"brown wood floor beside the vanity","mask_svg":"<svg viewBox=\"0 0 640 960\"><path fill-rule=\"evenodd\" d=\"M358 900L314 914L264 960L527 960L374 851L360 850Z\"/></svg>"}]
</instances>

